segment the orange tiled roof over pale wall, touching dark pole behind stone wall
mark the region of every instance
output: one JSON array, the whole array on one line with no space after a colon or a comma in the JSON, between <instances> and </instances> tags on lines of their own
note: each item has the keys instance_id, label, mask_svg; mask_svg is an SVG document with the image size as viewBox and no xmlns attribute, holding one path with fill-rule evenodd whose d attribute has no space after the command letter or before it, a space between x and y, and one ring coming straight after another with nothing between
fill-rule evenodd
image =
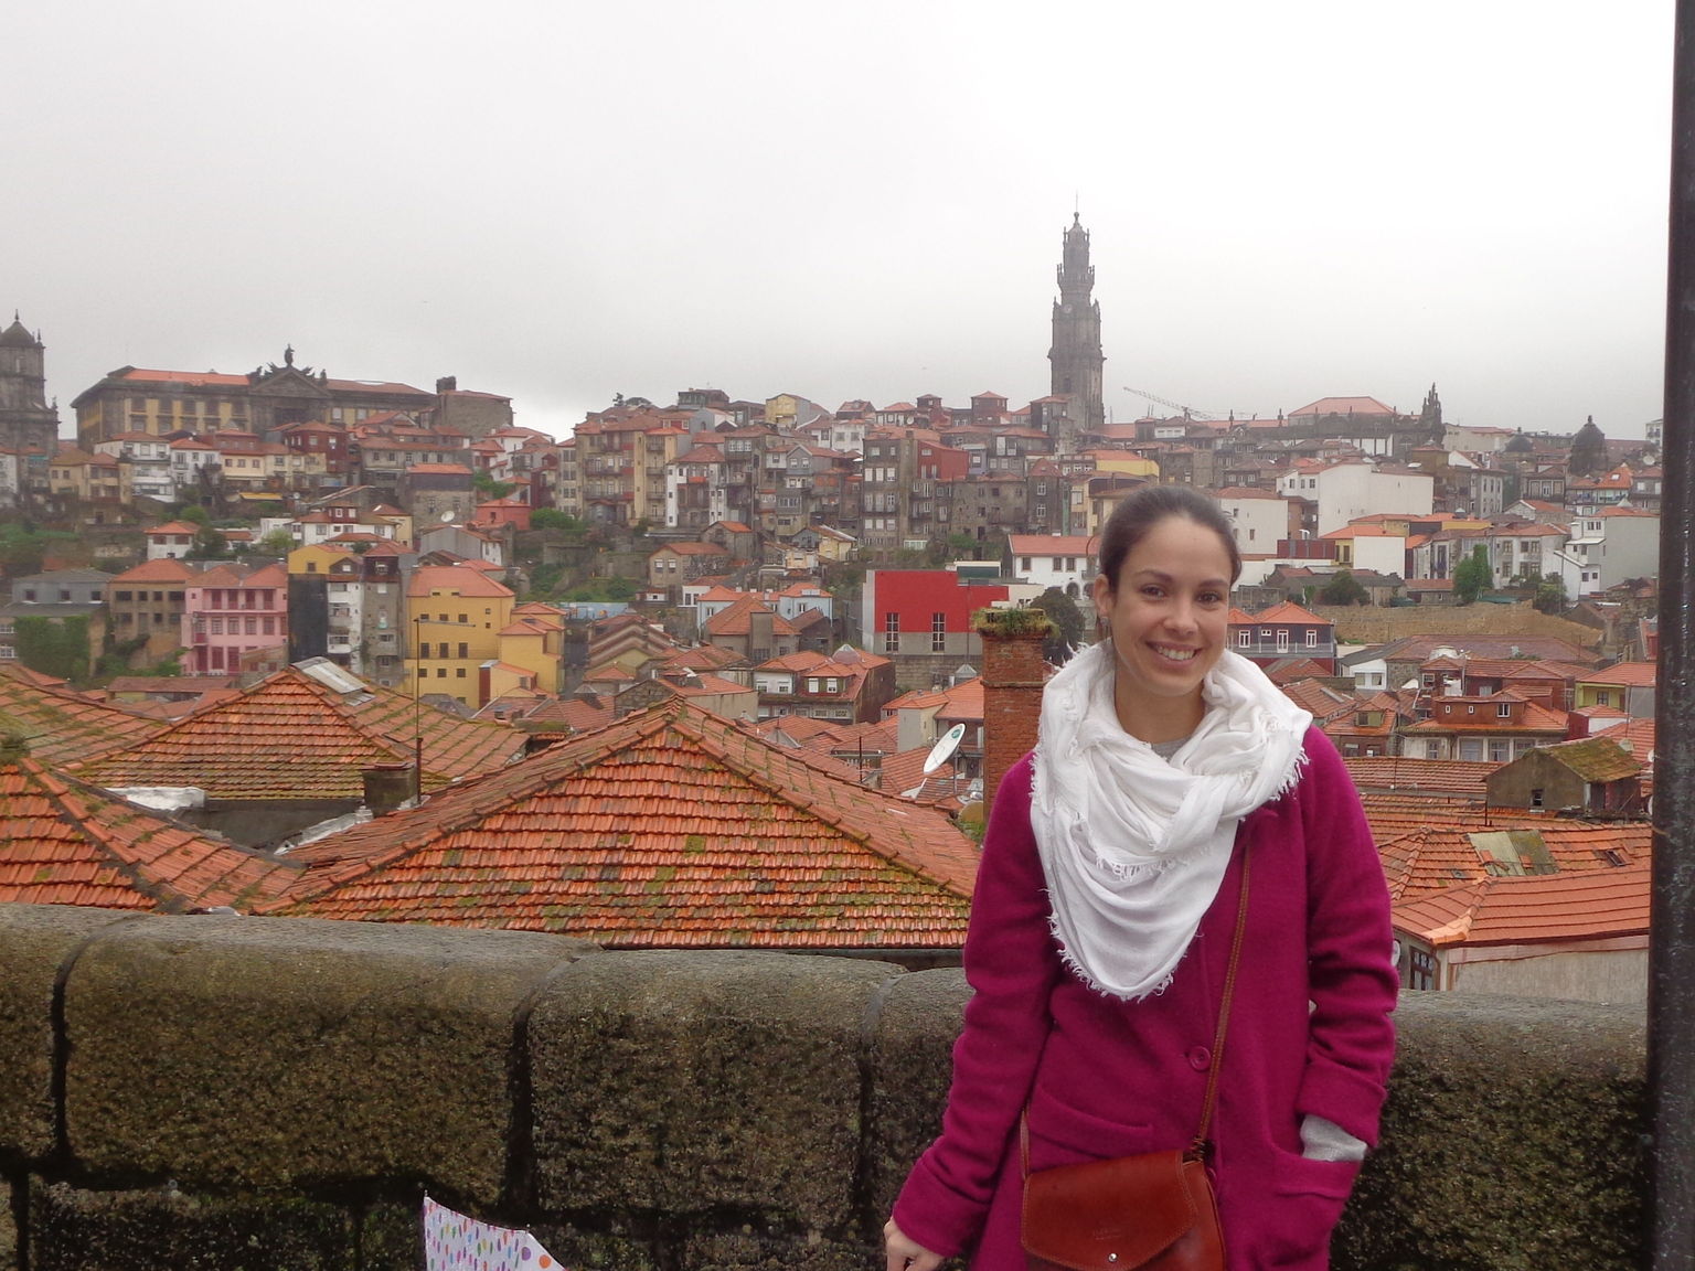
<instances>
[{"instance_id":1,"label":"orange tiled roof over pale wall, touching dark pole behind stone wall","mask_svg":"<svg viewBox=\"0 0 1695 1271\"><path fill-rule=\"evenodd\" d=\"M1393 924L1437 947L1646 935L1649 869L1485 878L1405 900L1395 905Z\"/></svg>"}]
</instances>

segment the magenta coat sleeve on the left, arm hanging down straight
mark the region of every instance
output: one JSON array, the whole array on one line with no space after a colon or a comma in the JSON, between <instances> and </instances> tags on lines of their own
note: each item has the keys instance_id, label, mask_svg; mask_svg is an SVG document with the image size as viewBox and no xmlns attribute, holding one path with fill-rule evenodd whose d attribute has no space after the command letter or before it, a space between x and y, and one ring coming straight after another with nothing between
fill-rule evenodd
<instances>
[{"instance_id":1,"label":"magenta coat sleeve on the left, arm hanging down straight","mask_svg":"<svg viewBox=\"0 0 1695 1271\"><path fill-rule=\"evenodd\" d=\"M978 1234L1019 1112L1048 1041L1059 957L1031 832L1031 759L995 796L971 896L964 973L975 990L954 1044L942 1134L912 1168L895 1222L931 1252L954 1256Z\"/></svg>"}]
</instances>

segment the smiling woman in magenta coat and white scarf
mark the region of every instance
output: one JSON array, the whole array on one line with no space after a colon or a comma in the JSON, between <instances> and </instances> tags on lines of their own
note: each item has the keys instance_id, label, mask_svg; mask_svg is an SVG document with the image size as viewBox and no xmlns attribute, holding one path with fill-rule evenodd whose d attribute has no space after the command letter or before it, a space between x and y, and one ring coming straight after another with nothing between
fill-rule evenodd
<instances>
[{"instance_id":1,"label":"smiling woman in magenta coat and white scarf","mask_svg":"<svg viewBox=\"0 0 1695 1271\"><path fill-rule=\"evenodd\" d=\"M1210 1159L1227 1263L1322 1269L1376 1139L1395 1005L1388 891L1312 717L1225 649L1241 559L1183 486L1100 536L1105 639L1042 695L983 842L942 1134L885 1227L888 1271L1022 1271L1031 1169L1185 1147L1254 858Z\"/></svg>"}]
</instances>

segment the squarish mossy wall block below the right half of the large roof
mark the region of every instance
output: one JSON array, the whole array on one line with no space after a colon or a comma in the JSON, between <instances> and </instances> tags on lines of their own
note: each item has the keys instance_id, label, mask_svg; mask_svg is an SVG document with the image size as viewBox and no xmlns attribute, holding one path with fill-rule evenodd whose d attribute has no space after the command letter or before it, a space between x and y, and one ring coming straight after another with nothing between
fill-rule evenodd
<instances>
[{"instance_id":1,"label":"squarish mossy wall block below the right half of the large roof","mask_svg":"<svg viewBox=\"0 0 1695 1271\"><path fill-rule=\"evenodd\" d=\"M900 974L775 952L576 963L531 1020L541 1208L844 1224L866 1013Z\"/></svg>"}]
</instances>

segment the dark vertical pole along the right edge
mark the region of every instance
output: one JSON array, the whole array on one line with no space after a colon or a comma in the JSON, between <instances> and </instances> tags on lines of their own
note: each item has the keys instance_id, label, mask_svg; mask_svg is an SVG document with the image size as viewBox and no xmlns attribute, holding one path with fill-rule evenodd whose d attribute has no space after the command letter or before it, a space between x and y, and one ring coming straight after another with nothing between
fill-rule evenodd
<instances>
[{"instance_id":1,"label":"dark vertical pole along the right edge","mask_svg":"<svg viewBox=\"0 0 1695 1271\"><path fill-rule=\"evenodd\" d=\"M1648 983L1649 1266L1695 1266L1695 0L1676 3Z\"/></svg>"}]
</instances>

